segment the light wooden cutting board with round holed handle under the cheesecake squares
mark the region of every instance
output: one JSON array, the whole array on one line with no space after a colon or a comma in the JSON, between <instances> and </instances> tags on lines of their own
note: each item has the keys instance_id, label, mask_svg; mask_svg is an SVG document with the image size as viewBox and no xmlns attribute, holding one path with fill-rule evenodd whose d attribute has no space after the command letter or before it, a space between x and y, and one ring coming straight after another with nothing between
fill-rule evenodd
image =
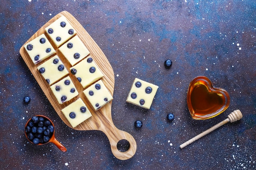
<instances>
[{"instance_id":1,"label":"light wooden cutting board with round holed handle under the cheesecake squares","mask_svg":"<svg viewBox=\"0 0 256 170\"><path fill-rule=\"evenodd\" d=\"M73 26L73 28L77 31L77 36L80 38L80 40L83 42L83 44L86 46L86 48L90 51L90 55L94 59L94 62L99 66L99 69L103 73L104 77L101 79L105 86L108 88L108 91L113 96L114 92L114 85L115 85L115 75L114 71L112 69L112 66L110 65L108 59L104 55L104 53L101 51L99 46L96 44L96 42L92 39L92 37L88 34L87 31L83 28L83 26L74 18L70 13L67 11L62 11L61 13L58 13L56 16L54 16L51 20L49 20L44 26L42 26L25 44L33 40L34 38L38 37L41 34L45 34L46 37L49 39L48 35L45 33L45 28L52 24L55 20L60 18L61 16L65 16L67 18L67 21ZM24 45L25 45L24 44ZM56 55L58 55L61 59L64 57L59 51L58 48L54 45L53 42L51 42L52 46L54 47L56 51ZM24 45L20 48L20 55L22 56L23 60L27 64L29 70L34 75L36 81L38 82L39 86L42 88L43 92L45 93L46 97L49 99L49 102L52 104L53 108L55 109L56 113L61 117L63 122L72 128L69 121L66 119L66 117L61 112L61 109L63 109L65 106L69 105L70 103L74 102L74 100L78 99L78 97L81 97L83 102L88 106L88 109L92 113L92 117L89 119L83 121L83 123L76 126L75 130L101 130L104 132L109 141L110 146L113 155L121 160L126 160L131 158L137 149L137 144L135 139L128 133L122 130L119 130L115 127L112 121L111 117L111 104L112 101L108 104L104 105L99 110L94 110L94 108L91 106L88 99L83 94L83 87L78 81L73 81L76 79L74 75L70 73L70 64L67 62L67 60L62 60L63 64L66 66L67 70L69 71L69 76L71 77L74 85L76 86L77 91L79 92L79 95L75 97L74 99L65 102L63 104L59 104L56 97L52 93L52 90L43 78L43 76L39 73L37 70L37 66L41 64L34 64L32 60L30 59L29 55L27 54L27 51L24 48ZM129 142L130 148L126 152L121 152L117 149L117 143L125 139ZM68 149L68 148L67 148Z\"/></svg>"}]
</instances>

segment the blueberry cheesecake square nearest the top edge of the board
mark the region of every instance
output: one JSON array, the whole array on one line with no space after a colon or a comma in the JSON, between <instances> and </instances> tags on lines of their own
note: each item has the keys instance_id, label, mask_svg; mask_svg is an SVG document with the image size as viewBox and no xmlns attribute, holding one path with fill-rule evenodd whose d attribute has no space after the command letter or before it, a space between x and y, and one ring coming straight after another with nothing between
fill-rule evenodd
<instances>
[{"instance_id":1,"label":"blueberry cheesecake square nearest the top edge of the board","mask_svg":"<svg viewBox=\"0 0 256 170\"><path fill-rule=\"evenodd\" d=\"M58 20L47 26L47 28L45 28L45 32L57 47L61 46L76 34L76 30L69 22L67 22L67 19L64 16L61 16Z\"/></svg>"}]
</instances>

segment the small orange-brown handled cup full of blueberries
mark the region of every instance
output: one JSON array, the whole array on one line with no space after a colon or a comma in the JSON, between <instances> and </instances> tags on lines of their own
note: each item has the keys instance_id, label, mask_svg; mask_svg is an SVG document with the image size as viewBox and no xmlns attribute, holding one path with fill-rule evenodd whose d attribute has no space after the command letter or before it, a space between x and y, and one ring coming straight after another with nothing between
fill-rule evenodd
<instances>
[{"instance_id":1,"label":"small orange-brown handled cup full of blueberries","mask_svg":"<svg viewBox=\"0 0 256 170\"><path fill-rule=\"evenodd\" d=\"M66 152L67 149L55 138L54 132L54 124L43 115L31 117L25 125L25 135L32 144L44 145L51 142L61 151Z\"/></svg>"}]
</instances>

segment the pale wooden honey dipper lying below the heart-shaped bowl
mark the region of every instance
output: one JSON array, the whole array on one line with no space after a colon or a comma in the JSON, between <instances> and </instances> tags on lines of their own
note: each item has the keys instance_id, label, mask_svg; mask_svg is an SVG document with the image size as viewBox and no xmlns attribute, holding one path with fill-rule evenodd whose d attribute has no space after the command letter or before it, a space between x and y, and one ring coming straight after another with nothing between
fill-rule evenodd
<instances>
[{"instance_id":1,"label":"pale wooden honey dipper lying below the heart-shaped bowl","mask_svg":"<svg viewBox=\"0 0 256 170\"><path fill-rule=\"evenodd\" d=\"M229 122L229 121L230 121L231 123L233 123L233 122L235 122L235 121L240 120L240 119L243 117L243 115L242 115L242 113L241 113L240 110L234 110L234 112L230 113L227 117L228 117L227 119L221 121L220 123L216 124L215 126L213 126L213 127L209 128L209 129L205 130L204 132L200 133L199 135L197 135L197 136L193 137L192 139L189 139L189 140L186 141L185 143L181 144L181 145L180 145L180 148L182 149L182 148L184 148L185 146L188 146L188 145L191 144L192 142L194 142L194 141L200 139L200 138L203 137L204 135L207 135L208 133L212 132L213 130L219 128L220 126L226 124L226 123Z\"/></svg>"}]
</instances>

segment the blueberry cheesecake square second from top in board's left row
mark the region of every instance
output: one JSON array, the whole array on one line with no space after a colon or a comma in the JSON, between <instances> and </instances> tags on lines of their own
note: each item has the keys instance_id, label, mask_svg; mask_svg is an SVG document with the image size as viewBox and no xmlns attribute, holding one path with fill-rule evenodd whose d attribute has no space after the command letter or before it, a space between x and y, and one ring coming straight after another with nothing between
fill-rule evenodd
<instances>
[{"instance_id":1,"label":"blueberry cheesecake square second from top in board's left row","mask_svg":"<svg viewBox=\"0 0 256 170\"><path fill-rule=\"evenodd\" d=\"M63 62L55 55L43 64L37 67L39 73L43 75L49 85L55 83L68 74L67 68L65 68Z\"/></svg>"}]
</instances>

